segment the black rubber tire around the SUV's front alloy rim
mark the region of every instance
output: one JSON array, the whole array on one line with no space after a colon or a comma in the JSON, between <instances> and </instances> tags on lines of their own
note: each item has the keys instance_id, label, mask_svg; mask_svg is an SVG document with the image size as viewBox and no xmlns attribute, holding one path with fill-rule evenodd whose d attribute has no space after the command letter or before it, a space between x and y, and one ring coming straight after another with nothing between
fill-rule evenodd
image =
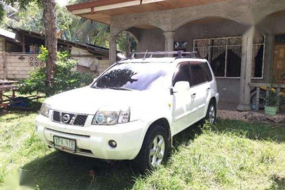
<instances>
[{"instance_id":1,"label":"black rubber tire around the SUV's front alloy rim","mask_svg":"<svg viewBox=\"0 0 285 190\"><path fill-rule=\"evenodd\" d=\"M164 140L164 153L163 153L163 157L161 161L158 164L163 163L168 156L168 141L167 141L167 132L165 128L157 124L150 126L150 128L147 130L145 134L139 153L132 161L133 165L142 172L145 170L152 170L154 167L158 165L157 164L153 166L150 162L150 159L151 159L150 150L154 149L153 141L154 141L154 138L156 138L157 136L163 137L163 140ZM157 156L157 161L158 161L158 156Z\"/></svg>"}]
</instances>

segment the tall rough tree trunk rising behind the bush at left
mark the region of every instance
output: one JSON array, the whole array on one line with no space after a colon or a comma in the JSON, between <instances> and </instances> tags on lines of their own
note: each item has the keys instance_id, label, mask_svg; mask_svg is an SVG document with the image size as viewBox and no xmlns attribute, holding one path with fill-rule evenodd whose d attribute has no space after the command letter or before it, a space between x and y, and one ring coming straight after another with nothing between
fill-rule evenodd
<instances>
[{"instance_id":1,"label":"tall rough tree trunk rising behind the bush at left","mask_svg":"<svg viewBox=\"0 0 285 190\"><path fill-rule=\"evenodd\" d=\"M43 20L48 50L45 84L51 86L55 76L55 62L57 61L55 0L43 0Z\"/></svg>"}]
</instances>

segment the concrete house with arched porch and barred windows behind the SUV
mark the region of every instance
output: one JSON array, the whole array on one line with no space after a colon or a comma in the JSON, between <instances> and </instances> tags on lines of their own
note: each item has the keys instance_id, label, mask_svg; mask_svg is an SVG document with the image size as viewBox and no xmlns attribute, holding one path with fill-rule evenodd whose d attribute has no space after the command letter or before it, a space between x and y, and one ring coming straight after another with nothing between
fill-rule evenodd
<instances>
[{"instance_id":1,"label":"concrete house with arched porch and barred windows behind the SUV","mask_svg":"<svg viewBox=\"0 0 285 190\"><path fill-rule=\"evenodd\" d=\"M285 0L94 0L66 6L110 25L110 64L122 31L137 51L197 51L207 58L220 100L249 110L250 83L284 83ZM258 88L259 89L259 88Z\"/></svg>"}]
</instances>

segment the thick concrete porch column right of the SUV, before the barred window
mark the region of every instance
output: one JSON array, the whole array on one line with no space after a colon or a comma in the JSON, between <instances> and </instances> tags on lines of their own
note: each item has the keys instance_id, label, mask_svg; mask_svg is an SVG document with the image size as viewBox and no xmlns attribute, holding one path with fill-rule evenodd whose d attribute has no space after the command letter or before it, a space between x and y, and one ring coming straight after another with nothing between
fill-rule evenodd
<instances>
[{"instance_id":1,"label":"thick concrete porch column right of the SUV, before the barred window","mask_svg":"<svg viewBox=\"0 0 285 190\"><path fill-rule=\"evenodd\" d=\"M242 35L242 51L241 51L241 71L240 71L240 90L239 104L237 110L248 111L250 106L250 87L248 83L251 81L252 67L252 44L255 28L251 26Z\"/></svg>"}]
</instances>

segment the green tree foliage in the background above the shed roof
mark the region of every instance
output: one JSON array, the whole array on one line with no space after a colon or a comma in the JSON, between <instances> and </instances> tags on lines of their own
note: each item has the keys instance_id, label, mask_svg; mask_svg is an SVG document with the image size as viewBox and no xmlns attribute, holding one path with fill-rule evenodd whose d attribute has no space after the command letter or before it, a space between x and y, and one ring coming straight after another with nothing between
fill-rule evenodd
<instances>
[{"instance_id":1,"label":"green tree foliage in the background above the shed roof","mask_svg":"<svg viewBox=\"0 0 285 190\"><path fill-rule=\"evenodd\" d=\"M87 2L90 0L69 0L69 4ZM1 27L13 26L22 29L44 33L42 18L42 0L4 0L0 3ZM5 16L4 5L11 5L18 11L13 16ZM56 5L56 24L59 37L80 43L91 43L103 47L109 46L110 27L107 24L91 21L87 18L72 15L66 7ZM126 52L125 33L117 37L117 50ZM130 37L130 51L136 49L133 37Z\"/></svg>"}]
</instances>

